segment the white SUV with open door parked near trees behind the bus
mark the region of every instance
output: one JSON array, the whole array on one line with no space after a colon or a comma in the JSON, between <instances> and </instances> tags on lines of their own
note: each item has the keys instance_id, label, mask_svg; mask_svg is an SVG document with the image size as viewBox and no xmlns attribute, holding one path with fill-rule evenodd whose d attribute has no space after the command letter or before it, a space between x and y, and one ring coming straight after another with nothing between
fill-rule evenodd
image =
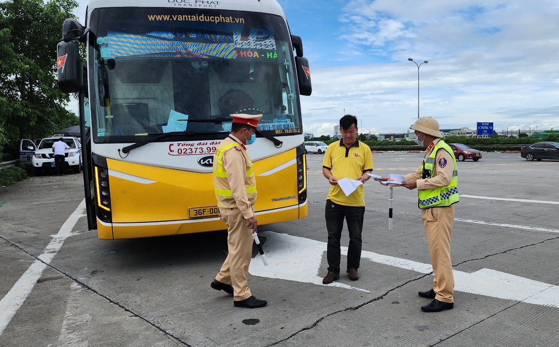
<instances>
[{"instance_id":1,"label":"white SUV with open door parked near trees behind the bus","mask_svg":"<svg viewBox=\"0 0 559 347\"><path fill-rule=\"evenodd\" d=\"M65 161L64 170L72 169L74 173L80 173L82 171L82 144L77 138L73 136L61 136L63 141L70 147L69 150L65 151ZM53 153L53 143L58 141L60 137L47 137L41 140L39 146L34 149L31 158L31 166L35 173L40 173L41 171L49 171L55 168L54 165L54 153ZM22 149L29 150L31 152L32 141L23 139L20 144L20 160L27 164L29 162L27 156L29 154L22 155ZM27 152L27 153L29 153Z\"/></svg>"}]
</instances>

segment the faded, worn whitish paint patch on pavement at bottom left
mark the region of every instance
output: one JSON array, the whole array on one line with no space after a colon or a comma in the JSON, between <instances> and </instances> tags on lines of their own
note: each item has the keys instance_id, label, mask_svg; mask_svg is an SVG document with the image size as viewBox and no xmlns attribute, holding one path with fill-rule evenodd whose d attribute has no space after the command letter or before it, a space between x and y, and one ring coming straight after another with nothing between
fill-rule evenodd
<instances>
[{"instance_id":1,"label":"faded, worn whitish paint patch on pavement at bottom left","mask_svg":"<svg viewBox=\"0 0 559 347\"><path fill-rule=\"evenodd\" d=\"M72 294L68 298L66 314L60 329L57 346L72 345L73 347L87 347L89 341L84 336L89 331L91 314L84 312L82 292L83 288L78 283L72 283Z\"/></svg>"}]
</instances>

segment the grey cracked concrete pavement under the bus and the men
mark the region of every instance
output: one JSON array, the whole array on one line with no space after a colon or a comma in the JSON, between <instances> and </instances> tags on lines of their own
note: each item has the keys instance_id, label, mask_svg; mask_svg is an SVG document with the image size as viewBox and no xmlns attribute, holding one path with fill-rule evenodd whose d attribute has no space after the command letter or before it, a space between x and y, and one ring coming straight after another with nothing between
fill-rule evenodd
<instances>
[{"instance_id":1,"label":"grey cracked concrete pavement under the bus and the men","mask_svg":"<svg viewBox=\"0 0 559 347\"><path fill-rule=\"evenodd\" d=\"M421 155L373 153L375 173L414 170ZM309 155L309 216L262 226L325 242L329 188L321 155ZM559 162L484 154L459 162L460 194L557 201ZM521 172L519 172L521 171ZM518 182L537 178L538 184ZM0 268L4 297L37 261L83 195L81 175L32 177L0 189ZM387 189L366 184L363 250L429 263L416 192L395 188L387 230ZM456 205L454 269L491 269L557 286L556 205L461 198ZM474 222L488 222L482 224ZM514 227L510 225L517 225ZM520 226L532 229L520 228ZM225 258L225 232L102 241L80 218L0 335L0 346L557 346L559 309L470 292L455 308L421 312L417 295L433 277L362 259L357 282L369 292L249 274L263 309L238 309L209 287ZM542 230L539 230L542 229ZM347 244L344 230L342 244ZM345 261L342 257L342 267ZM326 273L326 254L319 276ZM487 279L488 282L491 278ZM480 282L480 286L484 286Z\"/></svg>"}]
</instances>

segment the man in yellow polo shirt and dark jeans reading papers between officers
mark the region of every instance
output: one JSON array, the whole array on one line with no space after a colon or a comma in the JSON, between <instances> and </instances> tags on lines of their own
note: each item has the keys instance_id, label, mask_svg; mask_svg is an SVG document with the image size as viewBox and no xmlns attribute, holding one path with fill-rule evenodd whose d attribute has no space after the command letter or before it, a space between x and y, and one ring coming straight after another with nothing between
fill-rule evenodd
<instances>
[{"instance_id":1,"label":"man in yellow polo shirt and dark jeans reading papers between officers","mask_svg":"<svg viewBox=\"0 0 559 347\"><path fill-rule=\"evenodd\" d=\"M361 232L365 214L365 192L363 185L345 196L338 186L338 179L367 181L373 170L373 156L369 146L357 140L357 118L346 114L340 119L342 139L330 143L324 153L322 173L332 185L326 199L326 229L328 230L328 274L322 283L327 285L340 277L340 237L344 219L349 230L347 273L349 279L359 279L357 269L361 261Z\"/></svg>"}]
</instances>

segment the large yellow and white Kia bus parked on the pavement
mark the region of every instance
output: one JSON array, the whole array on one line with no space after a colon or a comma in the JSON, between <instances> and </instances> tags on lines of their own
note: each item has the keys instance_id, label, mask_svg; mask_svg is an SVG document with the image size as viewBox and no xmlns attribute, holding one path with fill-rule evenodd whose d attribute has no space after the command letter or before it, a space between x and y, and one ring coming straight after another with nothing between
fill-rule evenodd
<instances>
[{"instance_id":1,"label":"large yellow and white Kia bus parked on the pavement","mask_svg":"<svg viewBox=\"0 0 559 347\"><path fill-rule=\"evenodd\" d=\"M235 113L263 114L248 146L258 224L307 215L300 95L310 71L275 0L92 0L85 24L64 22L58 79L79 93L99 238L225 229L212 161Z\"/></svg>"}]
</instances>

